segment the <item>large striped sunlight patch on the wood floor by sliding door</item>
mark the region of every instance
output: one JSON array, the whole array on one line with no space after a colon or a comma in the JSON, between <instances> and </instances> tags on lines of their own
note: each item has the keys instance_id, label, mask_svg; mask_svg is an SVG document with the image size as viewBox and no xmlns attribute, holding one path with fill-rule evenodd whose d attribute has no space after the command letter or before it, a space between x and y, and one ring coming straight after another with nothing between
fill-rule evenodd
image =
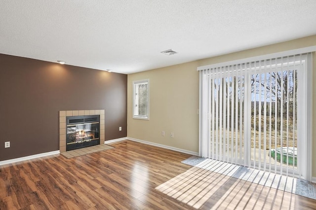
<instances>
[{"instance_id":1,"label":"large striped sunlight patch on the wood floor by sliding door","mask_svg":"<svg viewBox=\"0 0 316 210\"><path fill-rule=\"evenodd\" d=\"M195 209L238 209L238 208L286 208L294 207L295 197L291 193L264 187L255 183L221 175L205 169L193 167L159 185L156 189ZM237 166L218 167L233 173ZM287 202L279 201L276 196Z\"/></svg>"}]
</instances>

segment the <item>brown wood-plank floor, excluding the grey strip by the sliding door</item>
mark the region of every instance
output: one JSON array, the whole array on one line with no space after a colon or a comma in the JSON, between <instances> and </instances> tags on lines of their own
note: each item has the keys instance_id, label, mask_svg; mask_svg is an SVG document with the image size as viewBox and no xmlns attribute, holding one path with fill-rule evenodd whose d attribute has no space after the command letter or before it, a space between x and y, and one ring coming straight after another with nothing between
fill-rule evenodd
<instances>
[{"instance_id":1,"label":"brown wood-plank floor, excluding the grey strip by the sliding door","mask_svg":"<svg viewBox=\"0 0 316 210\"><path fill-rule=\"evenodd\" d=\"M129 140L111 145L116 148L71 159L53 155L0 166L0 210L316 209L316 200L182 164L188 154ZM208 180L204 186L199 177L196 189L214 191L198 206L180 199L197 197L183 194L187 184L179 196L158 190L192 171Z\"/></svg>"}]
</instances>

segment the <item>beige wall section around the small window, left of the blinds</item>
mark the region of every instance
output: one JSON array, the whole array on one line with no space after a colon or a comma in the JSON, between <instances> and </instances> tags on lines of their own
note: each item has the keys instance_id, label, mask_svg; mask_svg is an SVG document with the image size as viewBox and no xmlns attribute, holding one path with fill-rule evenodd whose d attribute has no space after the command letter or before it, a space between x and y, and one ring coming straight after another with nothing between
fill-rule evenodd
<instances>
[{"instance_id":1,"label":"beige wall section around the small window, left of the blinds","mask_svg":"<svg viewBox=\"0 0 316 210\"><path fill-rule=\"evenodd\" d=\"M132 119L132 82L149 79L150 120ZM198 151L198 72L191 62L127 76L128 137ZM161 136L165 131L165 136ZM170 138L170 133L174 138Z\"/></svg>"}]
</instances>

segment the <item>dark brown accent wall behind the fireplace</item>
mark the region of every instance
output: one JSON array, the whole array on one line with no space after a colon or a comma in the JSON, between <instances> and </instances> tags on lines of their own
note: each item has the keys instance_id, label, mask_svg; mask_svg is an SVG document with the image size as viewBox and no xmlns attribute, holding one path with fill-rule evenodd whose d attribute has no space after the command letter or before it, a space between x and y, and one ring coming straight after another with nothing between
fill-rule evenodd
<instances>
[{"instance_id":1,"label":"dark brown accent wall behind the fireplace","mask_svg":"<svg viewBox=\"0 0 316 210\"><path fill-rule=\"evenodd\" d=\"M126 137L126 94L125 74L0 54L0 161L58 150L60 110L105 109L105 140Z\"/></svg>"}]
</instances>

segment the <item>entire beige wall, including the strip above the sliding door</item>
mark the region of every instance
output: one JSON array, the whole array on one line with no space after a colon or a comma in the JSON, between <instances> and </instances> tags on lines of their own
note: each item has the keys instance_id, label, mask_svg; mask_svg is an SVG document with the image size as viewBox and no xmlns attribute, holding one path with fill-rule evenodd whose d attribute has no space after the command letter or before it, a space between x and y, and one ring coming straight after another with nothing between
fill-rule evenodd
<instances>
[{"instance_id":1,"label":"entire beige wall, including the strip above the sliding door","mask_svg":"<svg viewBox=\"0 0 316 210\"><path fill-rule=\"evenodd\" d=\"M127 136L139 140L198 152L197 67L316 45L316 35L244 50L190 63L143 71L127 76ZM175 55L176 56L176 55ZM316 81L314 53L313 81ZM132 118L132 82L150 79L150 120ZM313 95L316 93L316 82ZM313 131L316 131L316 96L313 97ZM165 131L165 136L161 136ZM174 138L170 138L170 132ZM313 133L313 160L316 160L316 132ZM316 176L316 161L313 162Z\"/></svg>"}]
</instances>

